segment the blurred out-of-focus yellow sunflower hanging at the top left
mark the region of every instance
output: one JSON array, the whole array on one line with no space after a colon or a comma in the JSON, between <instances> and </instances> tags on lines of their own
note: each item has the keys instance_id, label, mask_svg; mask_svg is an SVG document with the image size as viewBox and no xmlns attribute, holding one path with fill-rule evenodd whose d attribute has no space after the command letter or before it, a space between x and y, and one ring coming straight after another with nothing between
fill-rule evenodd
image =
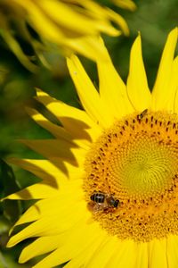
<instances>
[{"instance_id":1,"label":"blurred out-of-focus yellow sunflower hanging at the top left","mask_svg":"<svg viewBox=\"0 0 178 268\"><path fill-rule=\"evenodd\" d=\"M129 4L130 6L130 4ZM112 26L114 22L121 30ZM0 0L0 34L12 52L30 71L36 71L34 57L20 46L23 40L49 67L44 52L60 46L64 54L77 52L95 60L103 57L98 46L100 33L116 37L129 29L125 20L92 0ZM57 48L55 48L57 49Z\"/></svg>"}]
</instances>

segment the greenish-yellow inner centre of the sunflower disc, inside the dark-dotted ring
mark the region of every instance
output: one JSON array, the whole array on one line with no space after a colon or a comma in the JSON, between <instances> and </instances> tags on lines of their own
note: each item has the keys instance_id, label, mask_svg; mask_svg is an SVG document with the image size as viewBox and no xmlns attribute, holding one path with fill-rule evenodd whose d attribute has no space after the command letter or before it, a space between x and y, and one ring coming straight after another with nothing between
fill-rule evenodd
<instances>
[{"instance_id":1,"label":"greenish-yellow inner centre of the sunflower disc, inside the dark-dotted ring","mask_svg":"<svg viewBox=\"0 0 178 268\"><path fill-rule=\"evenodd\" d=\"M172 181L176 154L159 145L156 138L142 133L118 148L109 160L108 178L115 191L132 199L159 195ZM124 150L123 150L124 149Z\"/></svg>"}]
</instances>

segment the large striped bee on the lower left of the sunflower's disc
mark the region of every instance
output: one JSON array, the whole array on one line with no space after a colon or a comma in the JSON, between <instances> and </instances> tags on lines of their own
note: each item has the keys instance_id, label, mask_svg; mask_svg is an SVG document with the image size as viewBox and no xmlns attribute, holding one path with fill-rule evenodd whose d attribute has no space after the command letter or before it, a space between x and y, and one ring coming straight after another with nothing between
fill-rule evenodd
<instances>
[{"instance_id":1,"label":"large striped bee on the lower left of the sunflower's disc","mask_svg":"<svg viewBox=\"0 0 178 268\"><path fill-rule=\"evenodd\" d=\"M102 192L94 192L90 199L93 201L94 212L117 208L119 205L119 200L115 199L111 194Z\"/></svg>"}]
</instances>

